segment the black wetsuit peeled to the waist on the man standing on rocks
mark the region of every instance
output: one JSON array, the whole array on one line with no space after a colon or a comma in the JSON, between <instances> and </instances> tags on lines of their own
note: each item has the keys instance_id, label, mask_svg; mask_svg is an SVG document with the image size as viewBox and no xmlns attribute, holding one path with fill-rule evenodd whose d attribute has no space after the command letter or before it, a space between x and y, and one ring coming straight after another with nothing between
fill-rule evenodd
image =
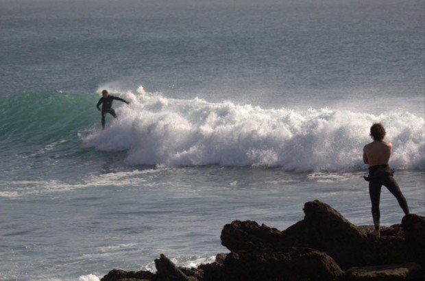
<instances>
[{"instance_id":1,"label":"black wetsuit peeled to the waist on the man standing on rocks","mask_svg":"<svg viewBox=\"0 0 425 281\"><path fill-rule=\"evenodd\" d=\"M369 167L369 175L365 177L365 180L369 182L369 195L370 201L372 201L372 217L374 218L375 229L379 229L379 198L380 188L383 185L397 198L398 204L402 207L404 214L409 214L406 198L402 195L398 183L393 178L393 173L394 170L390 169L388 164L377 165Z\"/></svg>"}]
</instances>

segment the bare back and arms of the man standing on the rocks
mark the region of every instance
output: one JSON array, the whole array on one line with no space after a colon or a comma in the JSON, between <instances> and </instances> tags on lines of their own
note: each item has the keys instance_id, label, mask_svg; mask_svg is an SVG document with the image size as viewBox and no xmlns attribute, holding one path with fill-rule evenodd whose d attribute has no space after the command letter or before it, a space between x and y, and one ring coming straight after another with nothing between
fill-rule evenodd
<instances>
[{"instance_id":1,"label":"bare back and arms of the man standing on the rocks","mask_svg":"<svg viewBox=\"0 0 425 281\"><path fill-rule=\"evenodd\" d=\"M375 140L363 147L363 162L369 167L388 164L393 145L386 141Z\"/></svg>"}]
</instances>

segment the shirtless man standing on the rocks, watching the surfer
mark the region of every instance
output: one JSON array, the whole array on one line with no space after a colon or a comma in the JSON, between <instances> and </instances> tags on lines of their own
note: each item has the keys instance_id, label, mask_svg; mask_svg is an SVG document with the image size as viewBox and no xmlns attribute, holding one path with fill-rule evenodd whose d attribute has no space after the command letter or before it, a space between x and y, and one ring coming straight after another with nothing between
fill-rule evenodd
<instances>
[{"instance_id":1,"label":"shirtless man standing on the rocks, watching the surfer","mask_svg":"<svg viewBox=\"0 0 425 281\"><path fill-rule=\"evenodd\" d=\"M398 183L393 178L393 169L389 169L388 161L391 156L393 145L384 141L385 128L380 123L375 123L370 127L370 136L374 139L372 143L363 148L363 162L369 164L369 175L365 180L369 182L369 195L372 201L372 217L374 219L375 230L371 234L379 236L379 197L380 188L384 185L388 188L402 207L404 214L409 214L406 198L402 195Z\"/></svg>"}]
</instances>

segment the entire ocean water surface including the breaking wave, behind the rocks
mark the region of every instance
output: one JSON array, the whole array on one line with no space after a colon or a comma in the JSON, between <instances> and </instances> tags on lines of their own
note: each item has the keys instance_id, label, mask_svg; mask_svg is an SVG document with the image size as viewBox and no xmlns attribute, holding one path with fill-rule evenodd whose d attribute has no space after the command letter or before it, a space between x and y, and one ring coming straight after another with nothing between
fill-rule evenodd
<instances>
[{"instance_id":1,"label":"entire ocean water surface including the breaking wave, behind the rocks","mask_svg":"<svg viewBox=\"0 0 425 281\"><path fill-rule=\"evenodd\" d=\"M0 280L98 280L227 252L320 199L372 224L382 122L425 215L423 1L0 0ZM104 88L118 119L101 130ZM381 224L402 210L383 188Z\"/></svg>"}]
</instances>

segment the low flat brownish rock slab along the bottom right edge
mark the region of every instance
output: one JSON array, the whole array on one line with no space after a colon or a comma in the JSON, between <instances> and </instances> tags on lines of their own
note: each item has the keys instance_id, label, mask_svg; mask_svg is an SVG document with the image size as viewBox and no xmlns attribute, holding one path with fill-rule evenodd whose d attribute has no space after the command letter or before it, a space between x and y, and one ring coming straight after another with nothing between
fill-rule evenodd
<instances>
[{"instance_id":1,"label":"low flat brownish rock slab along the bottom right edge","mask_svg":"<svg viewBox=\"0 0 425 281\"><path fill-rule=\"evenodd\" d=\"M379 265L374 267L353 267L345 271L346 281L422 281L422 267L415 262L404 265Z\"/></svg>"}]
</instances>

